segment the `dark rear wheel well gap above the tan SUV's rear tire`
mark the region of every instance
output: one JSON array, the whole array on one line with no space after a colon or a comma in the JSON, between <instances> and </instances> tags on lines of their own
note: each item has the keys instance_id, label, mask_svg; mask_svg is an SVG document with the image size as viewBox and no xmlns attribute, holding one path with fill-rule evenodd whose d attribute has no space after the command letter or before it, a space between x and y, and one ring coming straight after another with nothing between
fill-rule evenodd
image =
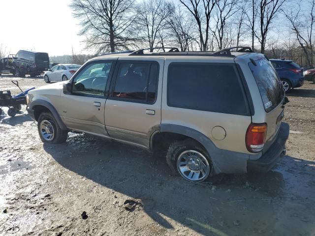
<instances>
[{"instance_id":1,"label":"dark rear wheel well gap above the tan SUV's rear tire","mask_svg":"<svg viewBox=\"0 0 315 236\"><path fill-rule=\"evenodd\" d=\"M157 148L167 149L172 142L183 141L186 139L191 139L204 148L202 144L200 144L197 140L189 136L178 134L178 133L171 133L171 132L160 132L160 133L154 134L154 136L151 138L150 149L151 150L155 150Z\"/></svg>"}]
</instances>

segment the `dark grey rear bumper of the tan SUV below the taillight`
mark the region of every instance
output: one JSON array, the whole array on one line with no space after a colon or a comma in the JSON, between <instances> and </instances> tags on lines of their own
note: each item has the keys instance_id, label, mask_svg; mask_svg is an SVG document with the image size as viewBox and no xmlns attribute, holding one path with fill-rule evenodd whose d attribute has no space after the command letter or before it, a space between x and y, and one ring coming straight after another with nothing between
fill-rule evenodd
<instances>
[{"instance_id":1,"label":"dark grey rear bumper of the tan SUV below the taillight","mask_svg":"<svg viewBox=\"0 0 315 236\"><path fill-rule=\"evenodd\" d=\"M248 160L247 169L267 172L285 155L285 142L289 137L290 127L282 122L276 141L258 160Z\"/></svg>"}]
</instances>

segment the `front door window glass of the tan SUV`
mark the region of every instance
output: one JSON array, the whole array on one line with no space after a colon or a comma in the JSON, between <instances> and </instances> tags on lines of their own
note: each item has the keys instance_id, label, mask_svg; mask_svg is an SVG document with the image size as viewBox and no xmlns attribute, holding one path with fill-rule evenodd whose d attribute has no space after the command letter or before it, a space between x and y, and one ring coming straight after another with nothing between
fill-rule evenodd
<instances>
[{"instance_id":1,"label":"front door window glass of the tan SUV","mask_svg":"<svg viewBox=\"0 0 315 236\"><path fill-rule=\"evenodd\" d=\"M88 64L74 78L72 93L104 96L111 67L112 62L97 62Z\"/></svg>"}]
</instances>

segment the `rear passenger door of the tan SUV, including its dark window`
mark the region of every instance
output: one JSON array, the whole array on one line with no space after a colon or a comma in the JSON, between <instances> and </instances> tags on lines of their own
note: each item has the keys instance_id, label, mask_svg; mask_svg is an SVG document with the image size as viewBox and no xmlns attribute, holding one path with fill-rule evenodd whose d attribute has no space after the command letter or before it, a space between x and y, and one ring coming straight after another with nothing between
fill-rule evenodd
<instances>
[{"instance_id":1,"label":"rear passenger door of the tan SUV, including its dark window","mask_svg":"<svg viewBox=\"0 0 315 236\"><path fill-rule=\"evenodd\" d=\"M149 147L161 122L163 67L164 59L118 59L105 106L111 138Z\"/></svg>"}]
</instances>

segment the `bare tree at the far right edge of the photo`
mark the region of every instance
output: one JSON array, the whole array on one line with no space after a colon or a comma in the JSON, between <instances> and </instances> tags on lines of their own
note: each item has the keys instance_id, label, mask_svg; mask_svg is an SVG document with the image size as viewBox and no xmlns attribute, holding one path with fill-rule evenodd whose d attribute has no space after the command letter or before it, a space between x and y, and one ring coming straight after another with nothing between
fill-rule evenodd
<instances>
[{"instance_id":1,"label":"bare tree at the far right edge of the photo","mask_svg":"<svg viewBox=\"0 0 315 236\"><path fill-rule=\"evenodd\" d=\"M314 42L312 35L315 22L315 0L310 1L310 9L310 12L303 17L300 4L298 4L296 7L292 7L284 12L284 15L290 23L291 31L296 35L300 48L306 55L307 64L313 66Z\"/></svg>"}]
</instances>

